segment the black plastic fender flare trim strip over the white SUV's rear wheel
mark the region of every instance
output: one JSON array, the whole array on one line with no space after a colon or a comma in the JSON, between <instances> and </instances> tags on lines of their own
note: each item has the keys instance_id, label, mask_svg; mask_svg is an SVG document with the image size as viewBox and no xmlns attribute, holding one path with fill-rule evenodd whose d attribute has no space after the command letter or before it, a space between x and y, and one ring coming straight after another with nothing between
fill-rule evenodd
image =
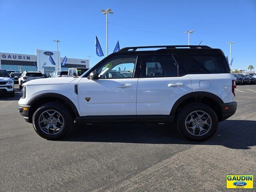
<instances>
[{"instance_id":1,"label":"black plastic fender flare trim strip over the white SUV's rear wheel","mask_svg":"<svg viewBox=\"0 0 256 192\"><path fill-rule=\"evenodd\" d=\"M184 96L180 97L175 103L174 105L172 106L172 109L171 109L171 112L170 112L170 115L174 116L178 107L180 106L180 104L182 102L184 102L185 100L189 99L189 98L193 98L193 97L208 97L208 98L211 98L212 100L215 100L216 102L218 102L219 104L222 104L224 103L223 100L213 94L213 93L210 93L210 92L206 92L206 91L196 91L196 92L192 92L192 93L188 93L188 94L185 94Z\"/></svg>"}]
</instances>

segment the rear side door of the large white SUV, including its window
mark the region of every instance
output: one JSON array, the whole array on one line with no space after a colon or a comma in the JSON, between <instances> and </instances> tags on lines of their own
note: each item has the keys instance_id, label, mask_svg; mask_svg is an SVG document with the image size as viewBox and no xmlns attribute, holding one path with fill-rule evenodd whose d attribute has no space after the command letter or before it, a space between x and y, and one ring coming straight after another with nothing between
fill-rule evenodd
<instances>
[{"instance_id":1,"label":"rear side door of the large white SUV, including its window","mask_svg":"<svg viewBox=\"0 0 256 192\"><path fill-rule=\"evenodd\" d=\"M192 92L191 80L172 54L145 55L137 86L137 115L169 115Z\"/></svg>"}]
</instances>

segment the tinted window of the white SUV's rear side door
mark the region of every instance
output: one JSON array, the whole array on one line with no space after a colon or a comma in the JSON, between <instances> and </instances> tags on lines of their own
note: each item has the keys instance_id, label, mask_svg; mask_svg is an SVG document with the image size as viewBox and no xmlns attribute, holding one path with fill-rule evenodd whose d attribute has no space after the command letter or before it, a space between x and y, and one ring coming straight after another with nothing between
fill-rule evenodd
<instances>
[{"instance_id":1,"label":"tinted window of the white SUV's rear side door","mask_svg":"<svg viewBox=\"0 0 256 192\"><path fill-rule=\"evenodd\" d=\"M176 77L184 75L184 72L172 55L147 55L144 75L146 77Z\"/></svg>"}]
</instances>

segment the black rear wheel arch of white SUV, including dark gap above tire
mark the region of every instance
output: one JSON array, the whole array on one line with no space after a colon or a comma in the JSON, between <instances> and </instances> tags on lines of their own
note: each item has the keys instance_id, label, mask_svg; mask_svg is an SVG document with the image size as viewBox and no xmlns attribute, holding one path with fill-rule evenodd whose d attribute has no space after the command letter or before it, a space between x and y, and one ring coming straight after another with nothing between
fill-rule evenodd
<instances>
[{"instance_id":1,"label":"black rear wheel arch of white SUV, including dark gap above tire","mask_svg":"<svg viewBox=\"0 0 256 192\"><path fill-rule=\"evenodd\" d=\"M193 102L207 104L216 112L218 120L222 120L222 108L220 104L224 103L223 100L215 94L204 91L192 92L180 97L172 106L170 115L175 117L180 108Z\"/></svg>"}]
</instances>

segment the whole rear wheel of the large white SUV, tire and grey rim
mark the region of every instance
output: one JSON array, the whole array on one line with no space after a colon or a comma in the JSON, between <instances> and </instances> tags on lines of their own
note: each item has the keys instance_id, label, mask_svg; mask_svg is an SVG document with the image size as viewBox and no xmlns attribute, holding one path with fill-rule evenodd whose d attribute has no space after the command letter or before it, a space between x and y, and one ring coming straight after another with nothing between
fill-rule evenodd
<instances>
[{"instance_id":1,"label":"whole rear wheel of the large white SUV, tire and grey rim","mask_svg":"<svg viewBox=\"0 0 256 192\"><path fill-rule=\"evenodd\" d=\"M176 126L190 140L206 140L218 128L218 117L210 106L201 103L189 104L178 113Z\"/></svg>"}]
</instances>

